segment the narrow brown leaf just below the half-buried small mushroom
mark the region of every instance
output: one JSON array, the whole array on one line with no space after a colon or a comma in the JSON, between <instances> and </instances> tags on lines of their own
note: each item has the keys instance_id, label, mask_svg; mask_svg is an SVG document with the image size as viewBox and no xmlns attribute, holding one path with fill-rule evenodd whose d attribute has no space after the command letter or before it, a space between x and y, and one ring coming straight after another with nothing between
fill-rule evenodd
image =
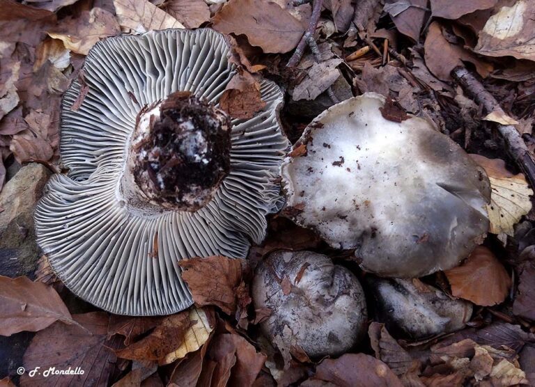
<instances>
[{"instance_id":1,"label":"narrow brown leaf just below the half-buried small mushroom","mask_svg":"<svg viewBox=\"0 0 535 387\"><path fill-rule=\"evenodd\" d=\"M372 322L368 328L368 334L375 357L388 365L394 374L405 374L414 363L418 363L392 338L385 324Z\"/></svg>"}]
</instances>

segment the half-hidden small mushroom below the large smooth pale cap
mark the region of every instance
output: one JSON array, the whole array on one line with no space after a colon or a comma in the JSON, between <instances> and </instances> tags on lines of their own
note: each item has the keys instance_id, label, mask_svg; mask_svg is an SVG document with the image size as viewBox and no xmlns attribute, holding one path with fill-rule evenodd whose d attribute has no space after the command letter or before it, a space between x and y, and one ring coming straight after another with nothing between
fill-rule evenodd
<instances>
[{"instance_id":1,"label":"half-hidden small mushroom below the large smooth pale cap","mask_svg":"<svg viewBox=\"0 0 535 387\"><path fill-rule=\"evenodd\" d=\"M426 338L463 329L472 317L472 303L451 299L417 279L371 278L374 308L389 332Z\"/></svg>"}]
</instances>

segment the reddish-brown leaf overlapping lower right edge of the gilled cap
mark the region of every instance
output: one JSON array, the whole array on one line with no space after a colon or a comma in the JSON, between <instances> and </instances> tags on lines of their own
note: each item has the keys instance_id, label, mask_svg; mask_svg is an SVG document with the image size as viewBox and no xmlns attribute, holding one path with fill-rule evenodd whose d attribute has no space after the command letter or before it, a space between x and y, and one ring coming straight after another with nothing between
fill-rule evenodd
<instances>
[{"instance_id":1,"label":"reddish-brown leaf overlapping lower right edge of the gilled cap","mask_svg":"<svg viewBox=\"0 0 535 387\"><path fill-rule=\"evenodd\" d=\"M214 255L181 260L178 265L197 306L215 305L227 315L234 315L235 289L242 278L240 260Z\"/></svg>"}]
</instances>

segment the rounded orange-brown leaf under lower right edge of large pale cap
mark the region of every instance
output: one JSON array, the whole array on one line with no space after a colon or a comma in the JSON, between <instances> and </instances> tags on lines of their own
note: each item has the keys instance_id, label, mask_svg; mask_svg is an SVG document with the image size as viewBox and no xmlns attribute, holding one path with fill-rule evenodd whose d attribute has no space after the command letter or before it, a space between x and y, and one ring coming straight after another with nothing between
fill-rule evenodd
<instances>
[{"instance_id":1,"label":"rounded orange-brown leaf under lower right edge of large pale cap","mask_svg":"<svg viewBox=\"0 0 535 387\"><path fill-rule=\"evenodd\" d=\"M492 251L477 246L466 262L444 271L451 285L451 294L476 305L502 303L509 294L511 278Z\"/></svg>"}]
</instances>

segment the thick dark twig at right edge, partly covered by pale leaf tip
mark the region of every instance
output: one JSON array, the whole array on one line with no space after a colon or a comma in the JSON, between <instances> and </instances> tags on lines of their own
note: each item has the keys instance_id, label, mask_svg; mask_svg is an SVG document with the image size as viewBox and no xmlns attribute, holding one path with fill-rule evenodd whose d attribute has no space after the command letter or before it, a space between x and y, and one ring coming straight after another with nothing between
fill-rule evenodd
<instances>
[{"instance_id":1,"label":"thick dark twig at right edge, partly covered by pale leaf tip","mask_svg":"<svg viewBox=\"0 0 535 387\"><path fill-rule=\"evenodd\" d=\"M451 76L458 81L460 86L474 98L474 100L483 106L486 113L497 111L503 113L497 100L491 95L467 68L458 66L451 71ZM497 125L499 134L505 141L506 150L515 161L518 167L526 175L527 180L532 188L535 187L535 160L531 152L522 140L522 136L513 125Z\"/></svg>"}]
</instances>

